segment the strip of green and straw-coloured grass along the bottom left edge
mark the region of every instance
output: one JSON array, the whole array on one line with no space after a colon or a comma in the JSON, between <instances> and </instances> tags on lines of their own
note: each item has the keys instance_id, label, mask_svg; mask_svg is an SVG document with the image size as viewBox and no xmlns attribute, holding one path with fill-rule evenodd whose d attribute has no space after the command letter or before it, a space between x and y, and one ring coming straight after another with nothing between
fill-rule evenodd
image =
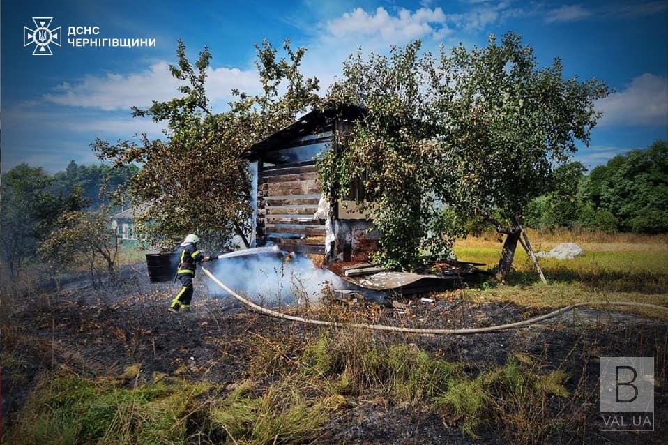
<instances>
[{"instance_id":1,"label":"strip of green and straw-coloured grass along the bottom left edge","mask_svg":"<svg viewBox=\"0 0 668 445\"><path fill-rule=\"evenodd\" d=\"M312 441L334 398L310 401L290 382L257 391L241 382L205 402L211 384L120 381L66 375L34 389L3 439L38 444L295 444Z\"/></svg>"}]
</instances>

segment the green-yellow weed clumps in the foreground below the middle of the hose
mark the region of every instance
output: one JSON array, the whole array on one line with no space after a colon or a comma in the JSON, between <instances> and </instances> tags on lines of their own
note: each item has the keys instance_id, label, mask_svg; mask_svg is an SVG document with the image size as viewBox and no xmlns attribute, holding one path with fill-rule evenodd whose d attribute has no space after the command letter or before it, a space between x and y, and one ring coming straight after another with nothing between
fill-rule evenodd
<instances>
[{"instance_id":1,"label":"green-yellow weed clumps in the foreground below the middle of the hose","mask_svg":"<svg viewBox=\"0 0 668 445\"><path fill-rule=\"evenodd\" d=\"M503 425L499 430L513 443L545 439L556 428L556 420L545 420L551 407L569 397L563 386L568 375L545 372L526 354L510 355L505 365L469 375L463 363L438 359L415 345L381 346L358 331L321 333L305 345L297 365L305 377L327 382L331 391L373 391L437 407L471 437L485 425Z\"/></svg>"}]
</instances>

